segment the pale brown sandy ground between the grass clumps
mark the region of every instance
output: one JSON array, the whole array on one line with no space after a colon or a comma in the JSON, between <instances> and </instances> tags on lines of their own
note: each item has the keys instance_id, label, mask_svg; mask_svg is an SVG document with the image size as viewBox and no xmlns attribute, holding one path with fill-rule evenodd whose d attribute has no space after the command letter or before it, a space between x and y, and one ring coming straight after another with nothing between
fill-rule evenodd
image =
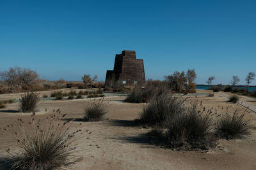
<instances>
[{"instance_id":1,"label":"pale brown sandy ground between the grass clumps","mask_svg":"<svg viewBox=\"0 0 256 170\"><path fill-rule=\"evenodd\" d=\"M170 150L151 145L150 138L145 135L149 129L133 124L132 120L138 118L144 104L124 103L124 99L106 97L104 104L108 113L105 120L100 122L81 121L86 104L93 99L40 101L37 117L45 117L52 110L60 108L62 113L67 113L65 120L76 118L70 123L71 131L82 130L76 134L72 143L77 147L74 154L81 160L68 169L256 169L255 127L248 138L230 141L220 139L218 147L208 152ZM214 93L214 97L200 96L198 99L202 100L206 108L216 108L219 112L227 106L231 106L232 110L243 109L237 104L227 103L221 93ZM18 113L17 109L16 103L0 109L0 153L17 147L13 135L20 131L17 118L30 119L29 113ZM255 125L255 113L247 113L246 117L252 118L252 124Z\"/></svg>"}]
</instances>

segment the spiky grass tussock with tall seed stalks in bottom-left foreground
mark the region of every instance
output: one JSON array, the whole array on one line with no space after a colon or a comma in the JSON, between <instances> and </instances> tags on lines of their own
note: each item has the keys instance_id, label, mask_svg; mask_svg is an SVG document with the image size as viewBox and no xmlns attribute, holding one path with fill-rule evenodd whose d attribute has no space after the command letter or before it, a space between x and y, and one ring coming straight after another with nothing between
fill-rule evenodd
<instances>
[{"instance_id":1,"label":"spiky grass tussock with tall seed stalks in bottom-left foreground","mask_svg":"<svg viewBox=\"0 0 256 170\"><path fill-rule=\"evenodd\" d=\"M29 124L18 119L22 130L15 133L19 150L1 157L6 169L60 169L74 163L76 160L72 157L72 151L75 148L70 148L70 139L81 130L70 134L65 125L67 122L57 122L63 116L58 112L54 117L47 117L44 123L36 120L35 115L32 115Z\"/></svg>"}]
</instances>

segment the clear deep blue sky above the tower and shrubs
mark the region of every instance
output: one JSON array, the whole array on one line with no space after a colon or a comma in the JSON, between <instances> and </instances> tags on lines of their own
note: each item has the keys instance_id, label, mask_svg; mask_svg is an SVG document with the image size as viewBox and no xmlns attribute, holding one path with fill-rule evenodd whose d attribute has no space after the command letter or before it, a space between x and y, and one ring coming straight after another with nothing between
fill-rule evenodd
<instances>
[{"instance_id":1,"label":"clear deep blue sky above the tower and shrubs","mask_svg":"<svg viewBox=\"0 0 256 170\"><path fill-rule=\"evenodd\" d=\"M256 1L0 1L0 71L104 80L122 50L136 50L146 78L193 68L196 83L243 85L256 73Z\"/></svg>"}]
</instances>

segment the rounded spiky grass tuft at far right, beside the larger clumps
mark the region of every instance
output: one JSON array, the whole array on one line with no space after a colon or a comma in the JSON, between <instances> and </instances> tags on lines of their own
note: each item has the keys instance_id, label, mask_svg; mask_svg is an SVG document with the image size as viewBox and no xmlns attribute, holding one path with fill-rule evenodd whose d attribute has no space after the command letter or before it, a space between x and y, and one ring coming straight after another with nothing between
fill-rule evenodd
<instances>
[{"instance_id":1,"label":"rounded spiky grass tuft at far right, beside the larger clumps","mask_svg":"<svg viewBox=\"0 0 256 170\"><path fill-rule=\"evenodd\" d=\"M238 115L237 111L223 115L216 125L217 134L225 139L243 138L250 134L250 129L250 120L246 120L244 114Z\"/></svg>"}]
</instances>

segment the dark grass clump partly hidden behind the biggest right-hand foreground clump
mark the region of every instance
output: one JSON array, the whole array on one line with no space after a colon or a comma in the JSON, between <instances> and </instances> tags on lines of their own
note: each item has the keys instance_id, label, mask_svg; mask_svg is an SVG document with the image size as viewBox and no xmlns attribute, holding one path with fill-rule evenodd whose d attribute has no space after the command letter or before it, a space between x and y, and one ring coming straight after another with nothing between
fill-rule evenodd
<instances>
[{"instance_id":1,"label":"dark grass clump partly hidden behind the biggest right-hand foreground clump","mask_svg":"<svg viewBox=\"0 0 256 170\"><path fill-rule=\"evenodd\" d=\"M141 122L150 126L163 125L166 115L173 115L184 110L181 106L183 102L179 97L170 94L170 92L157 92L150 99L147 106L143 107L143 111L140 113Z\"/></svg>"}]
</instances>

